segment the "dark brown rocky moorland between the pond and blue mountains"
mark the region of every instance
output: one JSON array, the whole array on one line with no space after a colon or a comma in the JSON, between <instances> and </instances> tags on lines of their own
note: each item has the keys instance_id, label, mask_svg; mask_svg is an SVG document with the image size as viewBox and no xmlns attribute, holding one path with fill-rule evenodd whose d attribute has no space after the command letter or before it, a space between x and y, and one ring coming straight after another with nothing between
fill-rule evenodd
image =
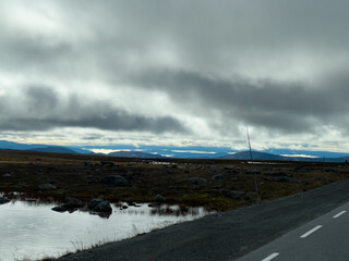
<instances>
[{"instance_id":1,"label":"dark brown rocky moorland between the pond and blue mountains","mask_svg":"<svg viewBox=\"0 0 349 261\"><path fill-rule=\"evenodd\" d=\"M165 202L183 209L202 206L227 211L255 203L254 175L261 199L267 201L347 179L349 164L0 152L0 191L8 197L17 191L43 200L103 197L131 203L152 202L161 195ZM101 183L107 176L122 176L127 184ZM44 184L56 188L39 189Z\"/></svg>"}]
</instances>

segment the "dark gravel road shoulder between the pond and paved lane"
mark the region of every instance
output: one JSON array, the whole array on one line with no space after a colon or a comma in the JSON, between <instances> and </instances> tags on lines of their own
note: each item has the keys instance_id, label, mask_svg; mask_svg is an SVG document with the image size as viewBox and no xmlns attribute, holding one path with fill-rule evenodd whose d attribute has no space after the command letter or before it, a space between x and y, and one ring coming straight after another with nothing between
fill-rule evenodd
<instances>
[{"instance_id":1,"label":"dark gravel road shoulder between the pond and paved lane","mask_svg":"<svg viewBox=\"0 0 349 261\"><path fill-rule=\"evenodd\" d=\"M131 239L107 244L59 260L237 260L338 208L348 199L349 181L337 182L291 197L208 215ZM321 229L323 228L325 226ZM272 253L273 251L265 254L267 257Z\"/></svg>"}]
</instances>

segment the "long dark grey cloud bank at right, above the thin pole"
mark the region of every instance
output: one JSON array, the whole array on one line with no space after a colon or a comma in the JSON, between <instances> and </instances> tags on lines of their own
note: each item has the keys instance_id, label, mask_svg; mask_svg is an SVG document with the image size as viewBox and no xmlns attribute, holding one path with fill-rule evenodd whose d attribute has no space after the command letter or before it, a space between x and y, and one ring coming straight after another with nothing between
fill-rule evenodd
<instances>
[{"instance_id":1,"label":"long dark grey cloud bank at right, above the thin pole","mask_svg":"<svg viewBox=\"0 0 349 261\"><path fill-rule=\"evenodd\" d=\"M139 78L139 85L161 89L201 114L218 111L222 125L239 120L286 133L310 132L321 125L344 125L349 109L349 78L338 82L334 86L312 88L297 82L230 80L183 71L147 72Z\"/></svg>"}]
</instances>

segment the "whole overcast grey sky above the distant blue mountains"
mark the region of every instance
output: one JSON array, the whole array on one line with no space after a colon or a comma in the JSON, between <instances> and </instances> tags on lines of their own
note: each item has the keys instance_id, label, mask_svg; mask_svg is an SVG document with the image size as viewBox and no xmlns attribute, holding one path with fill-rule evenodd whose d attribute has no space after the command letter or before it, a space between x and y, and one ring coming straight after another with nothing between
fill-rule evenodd
<instances>
[{"instance_id":1,"label":"whole overcast grey sky above the distant blue mountains","mask_svg":"<svg viewBox=\"0 0 349 261\"><path fill-rule=\"evenodd\" d=\"M2 0L0 139L349 151L348 10Z\"/></svg>"}]
</instances>

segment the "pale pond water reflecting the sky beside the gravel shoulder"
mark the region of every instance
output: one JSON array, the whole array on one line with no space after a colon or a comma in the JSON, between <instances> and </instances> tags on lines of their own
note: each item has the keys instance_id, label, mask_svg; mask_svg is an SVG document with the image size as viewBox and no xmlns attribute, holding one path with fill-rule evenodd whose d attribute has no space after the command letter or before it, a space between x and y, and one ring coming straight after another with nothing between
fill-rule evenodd
<instances>
[{"instance_id":1,"label":"pale pond water reflecting the sky beside the gravel shoulder","mask_svg":"<svg viewBox=\"0 0 349 261\"><path fill-rule=\"evenodd\" d=\"M81 211L58 213L51 210L55 206L24 201L0 206L1 261L59 256L98 241L120 240L206 214L198 208L195 214L185 216L154 215L146 204L141 204L127 210L113 207L109 219L101 219Z\"/></svg>"}]
</instances>

